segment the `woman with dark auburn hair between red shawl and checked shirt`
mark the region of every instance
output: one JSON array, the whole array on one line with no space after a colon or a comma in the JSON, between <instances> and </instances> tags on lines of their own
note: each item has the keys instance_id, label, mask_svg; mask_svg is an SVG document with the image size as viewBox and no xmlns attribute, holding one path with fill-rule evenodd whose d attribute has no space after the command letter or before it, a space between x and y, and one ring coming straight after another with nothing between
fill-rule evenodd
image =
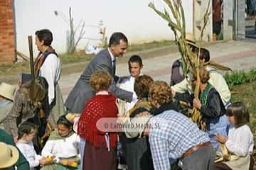
<instances>
[{"instance_id":1,"label":"woman with dark auburn hair between red shawl and checked shirt","mask_svg":"<svg viewBox=\"0 0 256 170\"><path fill-rule=\"evenodd\" d=\"M138 101L127 113L126 121L124 122L124 132L127 136L126 140L126 158L128 169L154 169L149 149L148 137L144 136L144 126L137 127L136 125L144 125L150 114L142 115L144 112L151 112L153 106L149 102L149 86L153 83L153 79L147 75L139 76L134 82L134 91L138 96ZM124 116L118 115L119 118ZM134 127L134 129L129 128Z\"/></svg>"}]
</instances>

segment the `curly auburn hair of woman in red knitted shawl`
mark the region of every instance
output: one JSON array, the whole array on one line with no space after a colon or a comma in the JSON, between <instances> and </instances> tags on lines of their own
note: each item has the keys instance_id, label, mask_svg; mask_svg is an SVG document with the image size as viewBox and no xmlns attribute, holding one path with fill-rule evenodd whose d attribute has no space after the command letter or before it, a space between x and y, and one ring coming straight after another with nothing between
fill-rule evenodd
<instances>
[{"instance_id":1,"label":"curly auburn hair of woman in red knitted shawl","mask_svg":"<svg viewBox=\"0 0 256 170\"><path fill-rule=\"evenodd\" d=\"M107 91L110 88L112 78L108 72L96 71L92 73L90 78L90 86L97 93L99 91Z\"/></svg>"}]
</instances>

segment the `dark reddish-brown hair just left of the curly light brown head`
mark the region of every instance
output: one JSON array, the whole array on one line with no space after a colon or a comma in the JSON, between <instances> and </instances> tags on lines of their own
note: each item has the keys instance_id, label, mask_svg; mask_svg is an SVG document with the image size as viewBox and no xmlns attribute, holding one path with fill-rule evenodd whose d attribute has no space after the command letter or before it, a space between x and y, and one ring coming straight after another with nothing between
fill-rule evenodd
<instances>
[{"instance_id":1,"label":"dark reddish-brown hair just left of the curly light brown head","mask_svg":"<svg viewBox=\"0 0 256 170\"><path fill-rule=\"evenodd\" d=\"M149 97L149 86L154 82L154 80L147 76L142 75L135 79L134 82L134 91L137 94L138 98Z\"/></svg>"}]
</instances>

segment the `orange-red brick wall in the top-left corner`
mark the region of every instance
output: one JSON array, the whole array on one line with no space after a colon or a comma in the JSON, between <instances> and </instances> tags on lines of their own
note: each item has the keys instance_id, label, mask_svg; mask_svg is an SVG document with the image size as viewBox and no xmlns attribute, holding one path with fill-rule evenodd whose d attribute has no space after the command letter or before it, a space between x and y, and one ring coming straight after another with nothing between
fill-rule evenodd
<instances>
[{"instance_id":1,"label":"orange-red brick wall in the top-left corner","mask_svg":"<svg viewBox=\"0 0 256 170\"><path fill-rule=\"evenodd\" d=\"M14 62L14 1L0 0L0 63Z\"/></svg>"}]
</instances>

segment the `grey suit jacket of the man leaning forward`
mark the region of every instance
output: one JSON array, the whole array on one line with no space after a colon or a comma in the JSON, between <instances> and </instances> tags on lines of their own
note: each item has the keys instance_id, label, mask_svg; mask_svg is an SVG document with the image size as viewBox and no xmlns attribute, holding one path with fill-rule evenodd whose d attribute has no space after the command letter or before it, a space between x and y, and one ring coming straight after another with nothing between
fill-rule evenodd
<instances>
[{"instance_id":1,"label":"grey suit jacket of the man leaning forward","mask_svg":"<svg viewBox=\"0 0 256 170\"><path fill-rule=\"evenodd\" d=\"M102 50L92 59L85 71L81 74L72 91L70 91L70 94L68 94L65 106L69 112L82 113L85 102L95 95L89 82L92 73L95 71L105 71L110 73L112 78L115 77L110 52L107 49ZM117 98L129 102L132 101L132 92L119 89L114 81L112 81L109 91L117 96Z\"/></svg>"}]
</instances>

